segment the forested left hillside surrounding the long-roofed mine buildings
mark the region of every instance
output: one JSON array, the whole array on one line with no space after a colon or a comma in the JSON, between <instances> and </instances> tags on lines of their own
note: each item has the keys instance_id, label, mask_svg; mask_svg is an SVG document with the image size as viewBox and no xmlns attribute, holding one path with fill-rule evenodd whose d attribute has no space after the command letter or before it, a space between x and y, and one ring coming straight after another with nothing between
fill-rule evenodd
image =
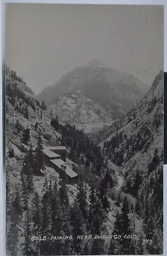
<instances>
[{"instance_id":1,"label":"forested left hillside surrounding the long-roofed mine buildings","mask_svg":"<svg viewBox=\"0 0 167 256\"><path fill-rule=\"evenodd\" d=\"M78 235L82 234L82 228L83 230L87 228L85 234L91 232L91 228L96 227L96 223L87 227L85 216L83 218L83 211L89 211L89 216L92 214L95 216L94 212L91 213L93 210L89 209L91 191L96 198L94 202L97 205L96 209L99 209L96 212L97 220L100 217L106 221L108 214L105 210L108 205L103 206L99 197L101 193L98 192L106 172L100 148L75 126L62 125L57 119L52 118L45 104L37 100L27 84L20 80L22 79L15 72L6 68L6 254L8 256L36 255L39 246L29 237L41 232L41 228L48 238L59 234L76 236L75 230L78 228L78 221L81 220L83 227L81 226L81 233L79 232ZM59 173L55 172L55 168L44 161L41 151L40 153L38 151L39 148L61 145L67 149L66 166L75 169L78 177L82 177L76 184L66 184ZM36 152L40 154L40 159ZM41 169L40 174L38 172L37 175L39 164ZM117 182L114 172L112 177L111 175L109 177L112 186L115 186ZM49 198L46 197L48 193L51 196ZM40 214L39 218L36 214ZM73 214L76 223L71 221ZM78 218L76 218L77 214ZM50 225L46 226L45 223ZM59 226L61 230L54 230L58 227L55 223L61 223ZM102 229L102 225L103 230L106 230L106 226L112 230L113 223L110 221L103 224L101 220L98 228ZM93 232L96 234L98 231L95 228ZM78 240L77 247L82 244L87 253L90 253L89 249L86 249L85 241ZM68 242L69 240L65 241L66 244L61 246L60 241L52 241L50 248L44 241L40 243L40 254L71 255L72 250L76 254L76 242L70 241L70 246Z\"/></svg>"}]
</instances>

